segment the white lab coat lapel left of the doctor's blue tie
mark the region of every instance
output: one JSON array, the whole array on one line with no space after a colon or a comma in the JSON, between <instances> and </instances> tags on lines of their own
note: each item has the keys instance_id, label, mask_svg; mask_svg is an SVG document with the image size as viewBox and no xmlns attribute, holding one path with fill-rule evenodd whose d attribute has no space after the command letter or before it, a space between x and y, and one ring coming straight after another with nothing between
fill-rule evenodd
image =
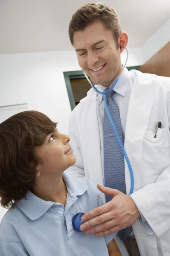
<instances>
[{"instance_id":1,"label":"white lab coat lapel left of the doctor's blue tie","mask_svg":"<svg viewBox=\"0 0 170 256\"><path fill-rule=\"evenodd\" d=\"M83 103L83 102L82 102ZM91 89L87 95L87 102L83 108L86 122L82 122L84 134L83 151L85 152L86 165L88 166L89 176L92 182L103 185L102 161L101 161L101 142L99 125L96 111L96 92ZM82 116L84 116L82 113Z\"/></svg>"}]
</instances>

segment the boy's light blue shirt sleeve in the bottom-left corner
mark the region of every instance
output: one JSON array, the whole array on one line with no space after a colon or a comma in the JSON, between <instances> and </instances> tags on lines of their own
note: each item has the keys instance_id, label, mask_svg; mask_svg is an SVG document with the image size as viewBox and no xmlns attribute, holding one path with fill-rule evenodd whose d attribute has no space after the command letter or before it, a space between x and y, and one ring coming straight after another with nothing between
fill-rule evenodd
<instances>
[{"instance_id":1,"label":"boy's light blue shirt sleeve in the bottom-left corner","mask_svg":"<svg viewBox=\"0 0 170 256\"><path fill-rule=\"evenodd\" d=\"M23 243L0 240L0 256L29 256Z\"/></svg>"}]
</instances>

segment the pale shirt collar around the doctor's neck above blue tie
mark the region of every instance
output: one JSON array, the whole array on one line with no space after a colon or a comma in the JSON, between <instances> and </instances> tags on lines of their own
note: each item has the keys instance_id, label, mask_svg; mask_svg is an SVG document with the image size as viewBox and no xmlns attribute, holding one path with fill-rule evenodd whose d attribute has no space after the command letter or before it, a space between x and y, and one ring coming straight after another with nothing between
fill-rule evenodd
<instances>
[{"instance_id":1,"label":"pale shirt collar around the doctor's neck above blue tie","mask_svg":"<svg viewBox=\"0 0 170 256\"><path fill-rule=\"evenodd\" d=\"M122 74L119 77L118 82L114 86L113 90L116 93L119 93L120 95L125 96L127 87L130 82L130 77L131 77L130 72L125 67L125 69L123 70ZM104 90L106 89L106 87L103 86L102 84L97 84L96 88L101 92L104 92ZM97 96L99 97L100 102L102 102L103 96L101 94L97 94Z\"/></svg>"}]
</instances>

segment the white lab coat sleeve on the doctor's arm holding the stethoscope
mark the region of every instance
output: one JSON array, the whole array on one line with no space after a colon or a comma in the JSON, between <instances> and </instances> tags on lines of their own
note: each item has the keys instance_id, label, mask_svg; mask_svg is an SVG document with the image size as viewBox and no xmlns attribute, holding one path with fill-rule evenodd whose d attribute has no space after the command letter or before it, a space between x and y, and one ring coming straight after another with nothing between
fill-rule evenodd
<instances>
[{"instance_id":1,"label":"white lab coat sleeve on the doctor's arm holding the stethoscope","mask_svg":"<svg viewBox=\"0 0 170 256\"><path fill-rule=\"evenodd\" d=\"M170 126L170 106L168 108ZM170 166L158 177L155 183L130 195L156 236L170 230Z\"/></svg>"}]
</instances>

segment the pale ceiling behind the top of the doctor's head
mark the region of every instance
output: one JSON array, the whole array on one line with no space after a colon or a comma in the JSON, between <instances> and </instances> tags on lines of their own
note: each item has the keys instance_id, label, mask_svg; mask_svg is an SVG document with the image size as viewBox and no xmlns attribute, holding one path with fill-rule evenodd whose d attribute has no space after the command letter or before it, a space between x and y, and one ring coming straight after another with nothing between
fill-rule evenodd
<instances>
[{"instance_id":1,"label":"pale ceiling behind the top of the doctor's head","mask_svg":"<svg viewBox=\"0 0 170 256\"><path fill-rule=\"evenodd\" d=\"M0 53L71 50L68 25L85 0L0 0ZM98 1L94 1L98 2ZM100 2L100 1L99 1ZM119 13L128 47L140 47L170 19L170 0L102 0Z\"/></svg>"}]
</instances>

